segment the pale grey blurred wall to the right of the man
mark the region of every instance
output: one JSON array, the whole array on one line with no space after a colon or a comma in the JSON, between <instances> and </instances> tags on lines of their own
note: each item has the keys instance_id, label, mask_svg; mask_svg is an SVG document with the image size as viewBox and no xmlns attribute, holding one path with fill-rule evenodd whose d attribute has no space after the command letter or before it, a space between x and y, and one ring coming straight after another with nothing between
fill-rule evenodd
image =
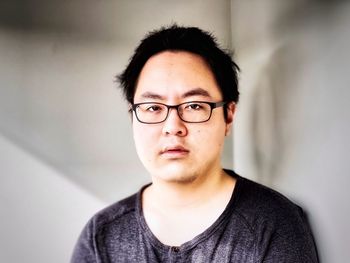
<instances>
[{"instance_id":1,"label":"pale grey blurred wall to the right of the man","mask_svg":"<svg viewBox=\"0 0 350 263\"><path fill-rule=\"evenodd\" d=\"M347 262L350 4L232 2L235 168L307 211L322 262Z\"/></svg>"}]
</instances>

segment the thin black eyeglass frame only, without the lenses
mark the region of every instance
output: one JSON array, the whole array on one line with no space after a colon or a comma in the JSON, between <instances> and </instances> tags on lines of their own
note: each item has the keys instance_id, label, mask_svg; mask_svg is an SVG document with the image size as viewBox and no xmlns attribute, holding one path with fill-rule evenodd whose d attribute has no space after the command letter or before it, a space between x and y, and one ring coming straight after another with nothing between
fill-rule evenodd
<instances>
[{"instance_id":1,"label":"thin black eyeglass frame only, without the lenses","mask_svg":"<svg viewBox=\"0 0 350 263\"><path fill-rule=\"evenodd\" d=\"M144 122L144 121L141 121L139 119L139 117L137 116L137 108L140 106L140 105L143 105L143 104L151 104L151 103L154 103L154 104L160 104L160 105L163 105L167 108L167 114L165 115L165 118L164 120L162 121L158 121L158 122ZM179 112L179 108L180 106L184 105L184 104L189 104L189 103L205 103L205 104L208 104L210 106L210 114L209 114L209 117L206 119L206 120L203 120L203 121L186 121L184 120L181 115L180 115L180 112ZM183 122L186 122L186 123L203 123L203 122L207 122L210 120L211 118L211 115L213 113L213 109L216 109L216 108L219 108L219 107L222 107L222 106L225 106L227 104L227 102L225 101L219 101L219 102L210 102L210 101L187 101L187 102L183 102L183 103L180 103L180 104L177 104L177 105L167 105L167 104L164 104L164 103L160 103L160 102L141 102L141 103L134 103L131 105L131 109L135 112L135 116L136 116L136 119L141 122L141 123L144 123L144 124L159 124L159 123L162 123L162 122L165 122L166 119L168 118L169 116L169 112L170 112L170 109L176 109L176 112L177 112L177 115L179 116L179 118L183 121Z\"/></svg>"}]
</instances>

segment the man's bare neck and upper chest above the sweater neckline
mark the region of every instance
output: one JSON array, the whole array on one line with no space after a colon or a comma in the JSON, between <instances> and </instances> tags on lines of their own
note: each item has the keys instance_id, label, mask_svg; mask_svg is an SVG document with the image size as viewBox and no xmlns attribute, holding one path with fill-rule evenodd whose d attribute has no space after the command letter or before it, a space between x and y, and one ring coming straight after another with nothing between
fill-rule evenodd
<instances>
[{"instance_id":1,"label":"man's bare neck and upper chest above the sweater neckline","mask_svg":"<svg viewBox=\"0 0 350 263\"><path fill-rule=\"evenodd\" d=\"M162 243L179 246L218 219L232 196L235 182L222 169L186 183L154 178L142 193L146 223Z\"/></svg>"}]
</instances>

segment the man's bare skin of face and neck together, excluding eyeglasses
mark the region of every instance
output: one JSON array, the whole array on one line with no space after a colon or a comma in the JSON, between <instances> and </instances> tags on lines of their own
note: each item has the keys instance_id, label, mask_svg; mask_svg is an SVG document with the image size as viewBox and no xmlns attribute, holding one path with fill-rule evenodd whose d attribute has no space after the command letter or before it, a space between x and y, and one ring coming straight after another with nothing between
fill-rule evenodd
<instances>
[{"instance_id":1,"label":"man's bare skin of face and neck together, excluding eyeglasses","mask_svg":"<svg viewBox=\"0 0 350 263\"><path fill-rule=\"evenodd\" d=\"M135 103L176 105L187 101L222 101L215 77L198 55L165 51L143 67ZM221 166L224 138L230 132L235 105L213 110L209 121L185 123L171 110L159 124L143 124L133 116L136 150L152 177L142 195L148 226L164 244L181 245L203 232L220 216L235 180Z\"/></svg>"}]
</instances>

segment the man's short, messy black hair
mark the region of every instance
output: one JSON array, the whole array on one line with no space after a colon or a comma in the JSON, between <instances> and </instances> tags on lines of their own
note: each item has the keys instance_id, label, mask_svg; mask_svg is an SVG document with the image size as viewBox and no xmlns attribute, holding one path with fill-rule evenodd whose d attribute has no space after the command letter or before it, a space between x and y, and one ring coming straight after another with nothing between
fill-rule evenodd
<instances>
[{"instance_id":1,"label":"man's short, messy black hair","mask_svg":"<svg viewBox=\"0 0 350 263\"><path fill-rule=\"evenodd\" d=\"M175 24L148 33L135 49L125 70L117 76L129 103L134 103L136 84L143 66L150 57L163 51L187 51L201 56L214 73L223 100L238 102L239 67L231 54L221 49L209 32Z\"/></svg>"}]
</instances>

